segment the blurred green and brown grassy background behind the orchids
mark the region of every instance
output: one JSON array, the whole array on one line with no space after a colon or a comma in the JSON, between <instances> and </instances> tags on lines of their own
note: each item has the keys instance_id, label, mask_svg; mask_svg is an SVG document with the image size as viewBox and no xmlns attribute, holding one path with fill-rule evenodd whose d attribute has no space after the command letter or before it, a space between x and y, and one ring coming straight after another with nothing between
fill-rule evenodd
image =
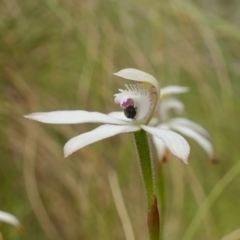
<instances>
[{"instance_id":1,"label":"blurred green and brown grassy background behind the orchids","mask_svg":"<svg viewBox=\"0 0 240 240\"><path fill-rule=\"evenodd\" d=\"M0 1L0 209L25 228L20 235L2 224L4 239L133 240L116 209L111 172L135 239L147 239L131 134L64 159L64 143L97 124L23 118L119 110L113 94L123 81L112 73L127 67L154 75L161 86L189 86L180 96L185 117L210 132L220 160L210 163L189 140L188 166L174 158L164 164L163 239L240 239L239 9L237 0Z\"/></svg>"}]
</instances>

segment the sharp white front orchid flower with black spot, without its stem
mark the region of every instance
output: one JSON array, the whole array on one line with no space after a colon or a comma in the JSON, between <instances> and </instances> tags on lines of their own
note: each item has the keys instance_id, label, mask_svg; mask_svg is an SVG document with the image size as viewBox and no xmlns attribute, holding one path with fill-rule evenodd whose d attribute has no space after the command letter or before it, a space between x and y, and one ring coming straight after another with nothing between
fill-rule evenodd
<instances>
[{"instance_id":1,"label":"sharp white front orchid flower with black spot, without its stem","mask_svg":"<svg viewBox=\"0 0 240 240\"><path fill-rule=\"evenodd\" d=\"M187 163L190 148L181 135L168 129L148 126L160 99L157 80L148 73L132 68L123 69L115 75L135 82L126 85L125 90L119 89L119 93L114 95L114 101L123 109L122 112L103 114L83 110L54 111L31 113L25 117L53 124L104 123L90 132L70 139L64 146L65 157L99 140L144 129L161 139L173 155Z\"/></svg>"}]
</instances>

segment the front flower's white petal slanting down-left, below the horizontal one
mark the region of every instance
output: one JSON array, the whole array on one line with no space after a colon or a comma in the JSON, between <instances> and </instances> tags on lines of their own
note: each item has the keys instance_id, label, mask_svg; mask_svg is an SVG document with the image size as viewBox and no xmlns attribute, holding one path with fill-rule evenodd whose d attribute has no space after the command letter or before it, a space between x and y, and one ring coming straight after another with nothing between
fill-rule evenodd
<instances>
[{"instance_id":1,"label":"front flower's white petal slanting down-left, below the horizontal one","mask_svg":"<svg viewBox=\"0 0 240 240\"><path fill-rule=\"evenodd\" d=\"M70 139L64 146L64 156L67 157L73 152L102 139L112 137L119 133L135 132L139 129L140 127L135 125L102 125L90 132L83 133Z\"/></svg>"}]
</instances>

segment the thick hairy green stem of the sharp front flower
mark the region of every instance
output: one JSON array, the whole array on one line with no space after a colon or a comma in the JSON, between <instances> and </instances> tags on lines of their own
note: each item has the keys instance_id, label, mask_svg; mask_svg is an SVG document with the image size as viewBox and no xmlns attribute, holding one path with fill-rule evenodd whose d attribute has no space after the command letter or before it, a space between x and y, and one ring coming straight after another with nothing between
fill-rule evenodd
<instances>
[{"instance_id":1,"label":"thick hairy green stem of the sharp front flower","mask_svg":"<svg viewBox=\"0 0 240 240\"><path fill-rule=\"evenodd\" d=\"M148 232L150 240L159 240L159 211L154 191L153 162L148 136L145 131L134 132L134 140L148 202Z\"/></svg>"}]
</instances>

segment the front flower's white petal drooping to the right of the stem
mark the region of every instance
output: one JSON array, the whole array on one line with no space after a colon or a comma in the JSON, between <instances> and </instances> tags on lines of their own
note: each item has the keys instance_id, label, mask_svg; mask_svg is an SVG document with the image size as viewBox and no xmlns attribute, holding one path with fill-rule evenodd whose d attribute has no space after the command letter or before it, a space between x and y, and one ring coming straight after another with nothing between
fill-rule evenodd
<instances>
[{"instance_id":1,"label":"front flower's white petal drooping to the right of the stem","mask_svg":"<svg viewBox=\"0 0 240 240\"><path fill-rule=\"evenodd\" d=\"M141 127L145 131L160 138L173 155L187 163L190 147L187 141L181 135L166 129L149 127L145 125L141 125Z\"/></svg>"}]
</instances>

